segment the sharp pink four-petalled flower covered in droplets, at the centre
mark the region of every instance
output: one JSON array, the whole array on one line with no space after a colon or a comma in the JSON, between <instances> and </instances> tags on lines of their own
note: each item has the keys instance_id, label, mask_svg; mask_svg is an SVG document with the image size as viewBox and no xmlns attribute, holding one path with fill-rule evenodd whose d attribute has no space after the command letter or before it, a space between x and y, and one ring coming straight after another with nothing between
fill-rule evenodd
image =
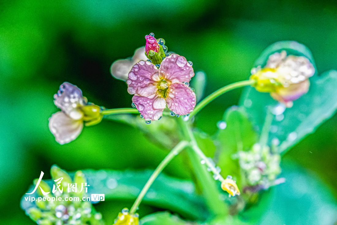
<instances>
[{"instance_id":1,"label":"sharp pink four-petalled flower covered in droplets, at the centre","mask_svg":"<svg viewBox=\"0 0 337 225\"><path fill-rule=\"evenodd\" d=\"M132 102L146 121L158 120L164 108L186 115L195 107L195 94L187 83L194 76L186 58L172 54L164 58L157 69L149 61L136 63L126 81Z\"/></svg>"}]
</instances>

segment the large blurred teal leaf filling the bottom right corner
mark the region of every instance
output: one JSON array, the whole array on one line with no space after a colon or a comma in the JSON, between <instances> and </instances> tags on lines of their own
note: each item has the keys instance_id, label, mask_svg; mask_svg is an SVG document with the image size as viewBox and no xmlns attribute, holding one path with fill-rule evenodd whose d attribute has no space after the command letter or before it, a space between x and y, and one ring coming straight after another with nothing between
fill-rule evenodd
<instances>
[{"instance_id":1,"label":"large blurred teal leaf filling the bottom right corner","mask_svg":"<svg viewBox=\"0 0 337 225\"><path fill-rule=\"evenodd\" d=\"M280 177L286 182L264 193L242 219L260 225L330 225L336 222L337 202L318 177L289 160L283 161Z\"/></svg>"}]
</instances>

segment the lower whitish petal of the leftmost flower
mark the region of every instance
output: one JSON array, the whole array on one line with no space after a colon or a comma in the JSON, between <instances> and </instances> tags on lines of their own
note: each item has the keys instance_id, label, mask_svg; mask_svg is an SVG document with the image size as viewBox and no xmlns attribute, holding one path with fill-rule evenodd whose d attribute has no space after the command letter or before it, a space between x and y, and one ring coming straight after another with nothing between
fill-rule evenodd
<instances>
[{"instance_id":1,"label":"lower whitish petal of the leftmost flower","mask_svg":"<svg viewBox=\"0 0 337 225\"><path fill-rule=\"evenodd\" d=\"M61 145L75 140L83 129L82 120L73 120L62 111L49 118L49 129Z\"/></svg>"}]
</instances>

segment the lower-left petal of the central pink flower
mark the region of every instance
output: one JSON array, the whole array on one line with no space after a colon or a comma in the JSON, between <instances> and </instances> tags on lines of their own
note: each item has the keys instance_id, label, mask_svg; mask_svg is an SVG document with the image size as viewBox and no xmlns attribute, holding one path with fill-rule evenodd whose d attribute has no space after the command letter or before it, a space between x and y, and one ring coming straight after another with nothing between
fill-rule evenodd
<instances>
[{"instance_id":1,"label":"lower-left petal of the central pink flower","mask_svg":"<svg viewBox=\"0 0 337 225\"><path fill-rule=\"evenodd\" d=\"M157 94L148 97L133 96L132 102L144 116L145 120L158 120L163 115L166 106L165 99Z\"/></svg>"}]
</instances>

